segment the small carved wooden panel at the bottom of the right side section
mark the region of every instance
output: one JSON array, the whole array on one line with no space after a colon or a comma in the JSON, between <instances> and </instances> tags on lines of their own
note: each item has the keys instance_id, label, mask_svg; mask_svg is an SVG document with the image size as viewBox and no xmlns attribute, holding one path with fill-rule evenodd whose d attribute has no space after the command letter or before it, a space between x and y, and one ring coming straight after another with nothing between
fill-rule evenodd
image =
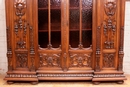
<instances>
[{"instance_id":1,"label":"small carved wooden panel at the bottom of the right side section","mask_svg":"<svg viewBox=\"0 0 130 87\"><path fill-rule=\"evenodd\" d=\"M112 53L104 54L103 67L104 68L114 67L114 57L115 57L115 54L112 54Z\"/></svg>"}]
</instances>

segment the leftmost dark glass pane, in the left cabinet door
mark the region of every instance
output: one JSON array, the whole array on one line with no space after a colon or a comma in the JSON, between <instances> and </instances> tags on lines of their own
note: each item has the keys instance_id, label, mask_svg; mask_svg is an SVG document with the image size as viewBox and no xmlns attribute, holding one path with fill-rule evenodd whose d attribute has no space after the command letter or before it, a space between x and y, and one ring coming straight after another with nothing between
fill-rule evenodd
<instances>
[{"instance_id":1,"label":"leftmost dark glass pane, in the left cabinet door","mask_svg":"<svg viewBox=\"0 0 130 87\"><path fill-rule=\"evenodd\" d=\"M38 0L38 41L42 48L48 44L48 0Z\"/></svg>"}]
</instances>

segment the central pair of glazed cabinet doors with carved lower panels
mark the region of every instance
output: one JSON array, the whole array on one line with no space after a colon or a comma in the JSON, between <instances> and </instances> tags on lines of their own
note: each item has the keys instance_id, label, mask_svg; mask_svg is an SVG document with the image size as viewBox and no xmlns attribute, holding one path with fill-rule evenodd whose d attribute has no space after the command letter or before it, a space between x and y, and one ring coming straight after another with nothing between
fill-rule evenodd
<instances>
[{"instance_id":1,"label":"central pair of glazed cabinet doors with carved lower panels","mask_svg":"<svg viewBox=\"0 0 130 87\"><path fill-rule=\"evenodd\" d=\"M93 1L38 0L37 72L41 79L46 72L93 73Z\"/></svg>"}]
</instances>

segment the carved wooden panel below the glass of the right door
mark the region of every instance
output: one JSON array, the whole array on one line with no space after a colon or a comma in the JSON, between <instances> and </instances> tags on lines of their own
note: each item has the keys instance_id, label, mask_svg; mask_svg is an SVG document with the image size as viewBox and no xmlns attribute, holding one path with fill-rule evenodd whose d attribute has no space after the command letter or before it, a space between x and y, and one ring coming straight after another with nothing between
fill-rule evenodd
<instances>
[{"instance_id":1,"label":"carved wooden panel below the glass of the right door","mask_svg":"<svg viewBox=\"0 0 130 87\"><path fill-rule=\"evenodd\" d=\"M91 67L91 54L70 54L70 67Z\"/></svg>"}]
</instances>

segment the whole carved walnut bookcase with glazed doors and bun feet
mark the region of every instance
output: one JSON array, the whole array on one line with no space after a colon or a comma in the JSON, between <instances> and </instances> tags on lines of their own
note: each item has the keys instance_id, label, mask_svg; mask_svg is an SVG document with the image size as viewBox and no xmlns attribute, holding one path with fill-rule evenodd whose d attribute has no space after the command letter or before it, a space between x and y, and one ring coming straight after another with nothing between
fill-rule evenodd
<instances>
[{"instance_id":1,"label":"whole carved walnut bookcase with glazed doors and bun feet","mask_svg":"<svg viewBox=\"0 0 130 87\"><path fill-rule=\"evenodd\" d=\"M125 0L6 0L8 83L123 83Z\"/></svg>"}]
</instances>

